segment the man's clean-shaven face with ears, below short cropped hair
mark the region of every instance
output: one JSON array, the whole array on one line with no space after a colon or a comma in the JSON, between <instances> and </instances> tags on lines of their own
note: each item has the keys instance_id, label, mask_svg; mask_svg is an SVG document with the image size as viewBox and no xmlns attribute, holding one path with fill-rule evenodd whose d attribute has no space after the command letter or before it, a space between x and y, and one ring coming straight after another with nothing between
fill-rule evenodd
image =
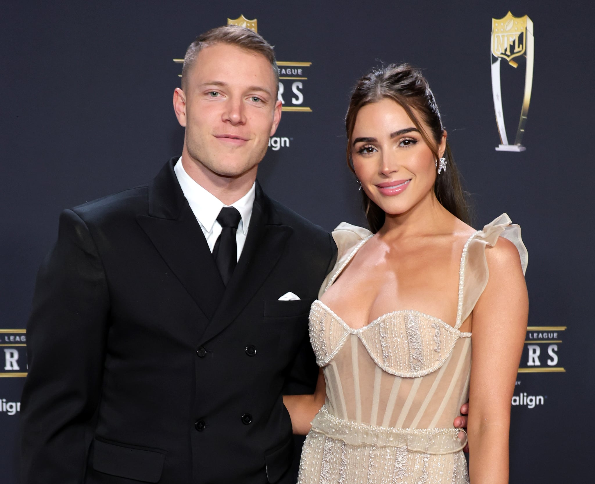
<instances>
[{"instance_id":1,"label":"man's clean-shaven face with ears, below short cropped hair","mask_svg":"<svg viewBox=\"0 0 595 484\"><path fill-rule=\"evenodd\" d=\"M281 119L281 102L265 56L233 45L202 49L176 90L174 108L186 127L190 157L212 172L239 177L255 168Z\"/></svg>"}]
</instances>

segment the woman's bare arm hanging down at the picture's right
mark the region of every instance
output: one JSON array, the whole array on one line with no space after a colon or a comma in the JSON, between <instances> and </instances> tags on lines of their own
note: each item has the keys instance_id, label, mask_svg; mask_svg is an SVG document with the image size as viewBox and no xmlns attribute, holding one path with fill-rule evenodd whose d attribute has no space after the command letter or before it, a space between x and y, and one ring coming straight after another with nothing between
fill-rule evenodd
<instances>
[{"instance_id":1,"label":"woman's bare arm hanging down at the picture's right","mask_svg":"<svg viewBox=\"0 0 595 484\"><path fill-rule=\"evenodd\" d=\"M511 400L529 301L515 246L503 237L486 249L490 276L472 319L469 388L471 484L508 483Z\"/></svg>"}]
</instances>

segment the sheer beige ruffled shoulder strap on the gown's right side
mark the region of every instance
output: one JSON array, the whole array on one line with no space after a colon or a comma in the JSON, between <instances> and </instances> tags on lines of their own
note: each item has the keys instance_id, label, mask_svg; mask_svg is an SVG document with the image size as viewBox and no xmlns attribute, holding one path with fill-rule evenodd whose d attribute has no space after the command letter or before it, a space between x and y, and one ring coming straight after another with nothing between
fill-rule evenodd
<instances>
[{"instance_id":1,"label":"sheer beige ruffled shoulder strap on the gown's right side","mask_svg":"<svg viewBox=\"0 0 595 484\"><path fill-rule=\"evenodd\" d=\"M527 269L528 253L525 244L521 239L521 227L512 224L511 219L503 213L494 221L487 224L483 230L478 231L469 240L464 253L464 260L461 268L462 287L459 303L459 318L457 324L468 318L475 304L486 288L489 271L486 260L486 247L496 245L498 237L504 237L515 244L521 257L522 272ZM458 327L458 326L457 326Z\"/></svg>"}]
</instances>

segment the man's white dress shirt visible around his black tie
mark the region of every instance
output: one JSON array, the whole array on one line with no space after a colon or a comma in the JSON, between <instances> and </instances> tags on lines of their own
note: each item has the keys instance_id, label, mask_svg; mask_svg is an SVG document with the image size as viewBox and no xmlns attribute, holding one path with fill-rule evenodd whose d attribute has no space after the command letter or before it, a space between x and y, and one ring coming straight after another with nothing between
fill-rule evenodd
<instances>
[{"instance_id":1,"label":"man's white dress shirt visible around his black tie","mask_svg":"<svg viewBox=\"0 0 595 484\"><path fill-rule=\"evenodd\" d=\"M217 222L217 216L223 207L233 207L240 212L242 219L237 226L236 243L237 243L237 260L240 260L240 254L244 243L246 242L246 235L248 234L248 227L250 226L250 217L252 216L252 205L254 205L254 197L256 192L256 182L252 188L248 190L241 199L231 205L225 205L214 194L205 190L196 181L190 178L186 170L182 166L182 158L178 159L174 166L174 172L180 183L180 187L184 193L184 197L188 200L188 205L192 209L196 220L201 226L202 233L205 234L206 243L209 244L209 250L213 252L215 242L221 235L221 225Z\"/></svg>"}]
</instances>

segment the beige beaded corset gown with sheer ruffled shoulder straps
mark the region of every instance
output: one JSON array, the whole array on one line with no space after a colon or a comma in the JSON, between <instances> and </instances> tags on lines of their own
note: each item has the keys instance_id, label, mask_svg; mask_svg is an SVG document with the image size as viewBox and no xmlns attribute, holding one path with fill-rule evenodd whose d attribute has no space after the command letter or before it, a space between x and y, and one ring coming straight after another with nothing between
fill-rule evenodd
<instances>
[{"instance_id":1,"label":"beige beaded corset gown with sheer ruffled shoulder straps","mask_svg":"<svg viewBox=\"0 0 595 484\"><path fill-rule=\"evenodd\" d=\"M330 287L372 234L339 225ZM400 309L361 329L320 300L310 312L310 340L327 386L300 461L299 484L468 483L465 447L452 422L468 398L471 333L459 326L486 287L484 251L498 237L527 250L518 225L503 214L466 241L461 256L456 324ZM320 297L319 295L319 297Z\"/></svg>"}]
</instances>

